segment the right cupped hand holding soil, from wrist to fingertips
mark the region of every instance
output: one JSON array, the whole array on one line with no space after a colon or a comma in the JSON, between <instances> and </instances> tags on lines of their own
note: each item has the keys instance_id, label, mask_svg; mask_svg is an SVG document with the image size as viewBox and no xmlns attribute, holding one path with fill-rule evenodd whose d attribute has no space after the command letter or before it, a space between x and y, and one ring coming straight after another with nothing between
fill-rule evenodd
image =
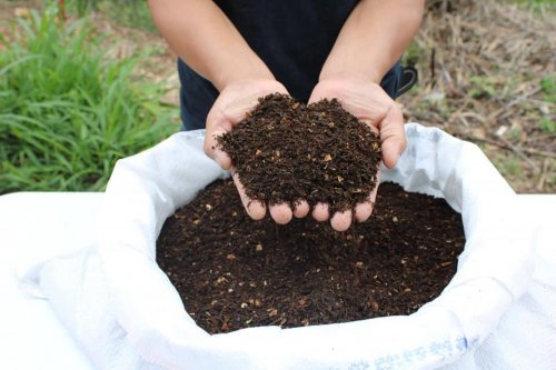
<instances>
[{"instance_id":1,"label":"right cupped hand holding soil, from wrist to fingertips","mask_svg":"<svg viewBox=\"0 0 556 370\"><path fill-rule=\"evenodd\" d=\"M345 110L379 134L384 163L388 168L396 166L406 148L404 116L396 102L375 82L337 78L320 81L312 90L309 103L335 98ZM330 224L337 231L347 230L354 217L358 222L366 221L373 213L379 178L380 171L378 170L377 186L367 200L358 203L354 210L336 212L330 218L329 206L319 203L315 207L312 217L317 221L326 221L330 218Z\"/></svg>"}]
</instances>

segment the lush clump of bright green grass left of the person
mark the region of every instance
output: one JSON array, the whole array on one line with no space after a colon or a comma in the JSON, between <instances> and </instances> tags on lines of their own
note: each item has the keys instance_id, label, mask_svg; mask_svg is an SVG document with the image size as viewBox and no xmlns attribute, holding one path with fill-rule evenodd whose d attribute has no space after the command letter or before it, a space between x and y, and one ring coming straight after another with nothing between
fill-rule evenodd
<instances>
[{"instance_id":1,"label":"lush clump of bright green grass left of the person","mask_svg":"<svg viewBox=\"0 0 556 370\"><path fill-rule=\"evenodd\" d=\"M87 22L57 19L32 12L0 36L0 193L102 190L117 159L177 130L159 86L132 77L137 58L109 59Z\"/></svg>"}]
</instances>

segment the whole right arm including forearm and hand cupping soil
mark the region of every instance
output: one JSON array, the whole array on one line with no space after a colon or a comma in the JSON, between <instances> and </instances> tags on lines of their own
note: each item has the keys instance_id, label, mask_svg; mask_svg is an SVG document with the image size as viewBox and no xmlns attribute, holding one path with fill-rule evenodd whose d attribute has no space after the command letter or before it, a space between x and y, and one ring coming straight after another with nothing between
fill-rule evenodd
<instances>
[{"instance_id":1,"label":"whole right arm including forearm and hand cupping soil","mask_svg":"<svg viewBox=\"0 0 556 370\"><path fill-rule=\"evenodd\" d=\"M404 116L379 83L415 37L424 7L424 0L361 0L344 24L309 99L337 98L347 111L368 123L380 134L384 162L389 168L406 147ZM332 228L346 230L353 218L367 220L376 193L377 189L353 212L334 214ZM327 219L327 206L319 204L312 216Z\"/></svg>"}]
</instances>

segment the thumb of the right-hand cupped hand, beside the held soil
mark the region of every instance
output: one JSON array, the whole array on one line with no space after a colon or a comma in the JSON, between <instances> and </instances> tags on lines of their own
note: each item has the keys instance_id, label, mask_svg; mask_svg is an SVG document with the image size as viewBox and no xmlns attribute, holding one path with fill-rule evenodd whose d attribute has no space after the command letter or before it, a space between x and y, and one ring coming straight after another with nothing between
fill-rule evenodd
<instances>
[{"instance_id":1,"label":"thumb of the right-hand cupped hand, beside the held soil","mask_svg":"<svg viewBox=\"0 0 556 370\"><path fill-rule=\"evenodd\" d=\"M393 103L385 118L378 123L383 160L386 167L396 166L399 156L406 149L406 132L404 130L404 114L396 103Z\"/></svg>"}]
</instances>

